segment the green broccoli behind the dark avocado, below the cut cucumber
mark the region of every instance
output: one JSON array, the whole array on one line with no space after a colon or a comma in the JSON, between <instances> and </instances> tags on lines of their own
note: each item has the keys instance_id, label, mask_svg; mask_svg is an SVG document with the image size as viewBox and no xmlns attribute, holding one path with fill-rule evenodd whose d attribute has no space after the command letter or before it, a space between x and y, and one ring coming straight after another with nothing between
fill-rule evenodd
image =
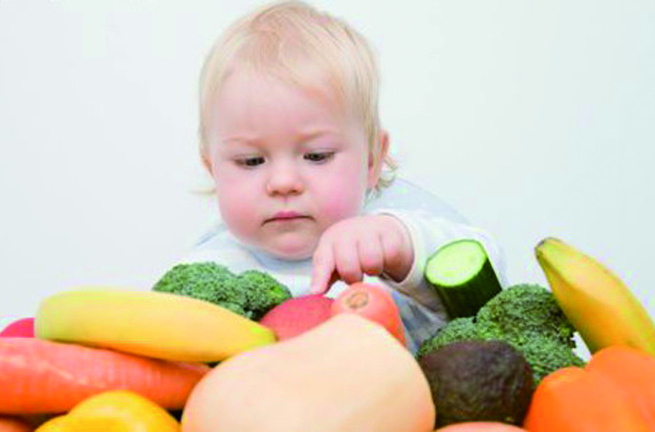
<instances>
[{"instance_id":1,"label":"green broccoli behind the dark avocado, below the cut cucumber","mask_svg":"<svg viewBox=\"0 0 655 432\"><path fill-rule=\"evenodd\" d=\"M521 351L532 367L535 385L549 373L585 362L573 352L574 328L541 285L508 287L475 317L452 320L425 340L417 358L463 340L503 340Z\"/></svg>"}]
</instances>

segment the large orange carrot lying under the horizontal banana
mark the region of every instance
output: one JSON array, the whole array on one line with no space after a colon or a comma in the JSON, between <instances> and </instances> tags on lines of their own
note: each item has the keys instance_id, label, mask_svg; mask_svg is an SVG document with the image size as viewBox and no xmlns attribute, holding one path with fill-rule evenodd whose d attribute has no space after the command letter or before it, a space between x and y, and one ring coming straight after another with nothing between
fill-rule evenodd
<instances>
[{"instance_id":1,"label":"large orange carrot lying under the horizontal banana","mask_svg":"<svg viewBox=\"0 0 655 432\"><path fill-rule=\"evenodd\" d=\"M181 409L210 370L36 338L0 338L0 413L61 413L90 395L125 389Z\"/></svg>"}]
</instances>

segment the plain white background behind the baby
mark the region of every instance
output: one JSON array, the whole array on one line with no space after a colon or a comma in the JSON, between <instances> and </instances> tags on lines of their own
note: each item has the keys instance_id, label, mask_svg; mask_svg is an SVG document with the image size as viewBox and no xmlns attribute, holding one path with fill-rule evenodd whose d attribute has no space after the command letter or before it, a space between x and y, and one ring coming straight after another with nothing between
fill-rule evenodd
<instances>
[{"instance_id":1,"label":"plain white background behind the baby","mask_svg":"<svg viewBox=\"0 0 655 432\"><path fill-rule=\"evenodd\" d=\"M258 1L0 0L0 327L81 285L149 289L216 220L210 45ZM655 316L655 1L324 0L379 53L401 174L545 278L557 236Z\"/></svg>"}]
</instances>

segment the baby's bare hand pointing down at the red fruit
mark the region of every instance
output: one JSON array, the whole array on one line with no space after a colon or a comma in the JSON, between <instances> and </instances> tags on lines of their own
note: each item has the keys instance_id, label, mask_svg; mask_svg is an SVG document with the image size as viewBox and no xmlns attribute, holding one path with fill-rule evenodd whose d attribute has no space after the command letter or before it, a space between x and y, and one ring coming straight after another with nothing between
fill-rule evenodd
<instances>
[{"instance_id":1,"label":"baby's bare hand pointing down at the red fruit","mask_svg":"<svg viewBox=\"0 0 655 432\"><path fill-rule=\"evenodd\" d=\"M337 279L351 284L364 274L407 276L414 261L412 240L400 220L388 215L357 216L326 229L314 251L312 294L328 291Z\"/></svg>"}]
</instances>

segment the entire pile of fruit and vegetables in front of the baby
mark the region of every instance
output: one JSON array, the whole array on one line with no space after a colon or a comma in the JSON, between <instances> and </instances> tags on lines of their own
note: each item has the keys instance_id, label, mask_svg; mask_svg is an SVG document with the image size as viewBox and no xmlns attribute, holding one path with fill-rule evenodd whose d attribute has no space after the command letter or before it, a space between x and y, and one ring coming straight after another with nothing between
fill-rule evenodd
<instances>
[{"instance_id":1,"label":"entire pile of fruit and vegetables in front of the baby","mask_svg":"<svg viewBox=\"0 0 655 432\"><path fill-rule=\"evenodd\" d=\"M416 356L388 291L363 283L237 298L228 282L253 275L205 265L222 290L207 301L166 292L179 273L55 294L0 333L0 431L655 431L645 309L560 240L536 256L550 290L501 290L479 244L436 251L426 278L452 320Z\"/></svg>"}]
</instances>

